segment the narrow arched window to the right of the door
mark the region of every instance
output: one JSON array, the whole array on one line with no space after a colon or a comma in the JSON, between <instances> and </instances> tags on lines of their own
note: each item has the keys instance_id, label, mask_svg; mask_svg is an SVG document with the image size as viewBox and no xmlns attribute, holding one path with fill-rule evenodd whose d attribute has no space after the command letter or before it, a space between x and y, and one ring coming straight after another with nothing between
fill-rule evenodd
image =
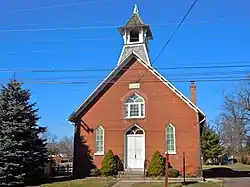
<instances>
[{"instance_id":1,"label":"narrow arched window to the right of the door","mask_svg":"<svg viewBox=\"0 0 250 187\"><path fill-rule=\"evenodd\" d=\"M175 127L169 124L165 127L166 152L176 154Z\"/></svg>"}]
</instances>

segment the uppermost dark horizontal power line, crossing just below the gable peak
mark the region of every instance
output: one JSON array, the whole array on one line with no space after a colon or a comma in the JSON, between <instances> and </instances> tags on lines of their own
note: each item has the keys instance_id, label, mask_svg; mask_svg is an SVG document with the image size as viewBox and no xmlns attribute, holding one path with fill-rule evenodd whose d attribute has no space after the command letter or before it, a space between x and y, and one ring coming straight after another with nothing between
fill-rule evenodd
<instances>
[{"instance_id":1,"label":"uppermost dark horizontal power line, crossing just below the gable peak","mask_svg":"<svg viewBox=\"0 0 250 187\"><path fill-rule=\"evenodd\" d=\"M248 62L250 63L250 62ZM246 68L250 67L250 64L243 65L214 65L214 66L183 66L183 67L160 67L154 68L156 70L184 70L184 69L213 69L213 68ZM126 69L126 68L123 68ZM145 68L133 68L130 70L138 71L144 70ZM0 72L7 73L74 73L74 72L98 72L98 71L111 71L112 68L103 68L103 69L0 69Z\"/></svg>"}]
</instances>

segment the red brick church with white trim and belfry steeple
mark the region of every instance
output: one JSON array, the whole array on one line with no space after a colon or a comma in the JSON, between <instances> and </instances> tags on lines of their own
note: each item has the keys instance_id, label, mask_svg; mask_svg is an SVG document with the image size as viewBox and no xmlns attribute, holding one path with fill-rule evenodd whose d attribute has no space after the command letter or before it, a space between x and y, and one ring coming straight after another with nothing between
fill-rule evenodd
<instances>
[{"instance_id":1,"label":"red brick church with white trim and belfry steeple","mask_svg":"<svg viewBox=\"0 0 250 187\"><path fill-rule=\"evenodd\" d=\"M75 125L75 175L90 162L100 167L111 149L125 169L137 171L143 171L155 151L168 152L171 166L181 173L185 152L186 173L200 176L206 118L196 106L194 82L188 99L152 67L152 31L137 7L119 32L124 43L116 67L69 117Z\"/></svg>"}]
</instances>

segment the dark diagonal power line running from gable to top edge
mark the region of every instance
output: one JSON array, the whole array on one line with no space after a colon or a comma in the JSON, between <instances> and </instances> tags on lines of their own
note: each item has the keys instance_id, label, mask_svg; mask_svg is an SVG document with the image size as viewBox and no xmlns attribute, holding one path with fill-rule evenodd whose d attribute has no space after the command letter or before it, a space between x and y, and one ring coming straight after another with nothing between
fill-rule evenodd
<instances>
[{"instance_id":1,"label":"dark diagonal power line running from gable to top edge","mask_svg":"<svg viewBox=\"0 0 250 187\"><path fill-rule=\"evenodd\" d=\"M157 61L157 59L159 58L159 56L161 55L161 53L164 51L164 49L167 47L167 45L170 43L170 41L172 40L172 38L175 36L175 34L177 33L177 31L179 30L179 28L181 27L181 25L184 23L184 21L186 20L187 16L189 15L189 13L191 12L191 10L194 8L195 4L197 3L198 0L194 0L193 4L190 6L190 8L188 9L187 13L185 14L185 16L183 17L183 19L181 20L181 22L179 23L179 25L176 27L176 29L174 30L173 34L170 36L170 38L167 40L166 44L163 46L163 48L160 50L160 52L156 55L156 58L154 59L154 61L152 62L152 65ZM145 74L147 73L147 71L145 71L145 73L139 78L138 82L145 76Z\"/></svg>"}]
</instances>

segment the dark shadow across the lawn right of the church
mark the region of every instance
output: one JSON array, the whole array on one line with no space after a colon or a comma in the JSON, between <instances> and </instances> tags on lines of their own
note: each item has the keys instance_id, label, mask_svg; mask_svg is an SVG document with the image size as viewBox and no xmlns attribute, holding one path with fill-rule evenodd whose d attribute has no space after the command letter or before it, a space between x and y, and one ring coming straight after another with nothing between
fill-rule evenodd
<instances>
[{"instance_id":1,"label":"dark shadow across the lawn right of the church","mask_svg":"<svg viewBox=\"0 0 250 187\"><path fill-rule=\"evenodd\" d=\"M211 168L203 170L205 178L236 178L236 177L250 177L250 171L237 171L230 168Z\"/></svg>"}]
</instances>

